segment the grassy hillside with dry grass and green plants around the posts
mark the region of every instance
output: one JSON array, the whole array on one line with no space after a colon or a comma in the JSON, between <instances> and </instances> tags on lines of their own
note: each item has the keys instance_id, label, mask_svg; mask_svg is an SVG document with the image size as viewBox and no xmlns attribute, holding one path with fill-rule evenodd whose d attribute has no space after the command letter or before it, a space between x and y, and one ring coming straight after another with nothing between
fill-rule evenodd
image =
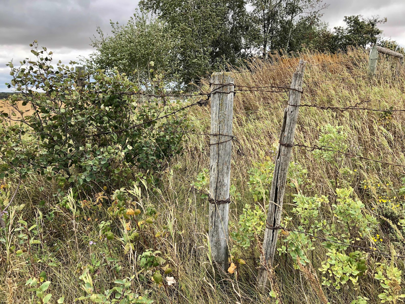
<instances>
[{"instance_id":1,"label":"grassy hillside with dry grass and green plants around the posts","mask_svg":"<svg viewBox=\"0 0 405 304\"><path fill-rule=\"evenodd\" d=\"M377 75L371 78L367 76L368 54L364 51L333 56L300 54L299 57L307 61L302 104L405 109L405 73L398 69L394 59L382 57ZM235 83L289 86L297 63L297 58L287 56L256 60L245 69L234 71ZM394 257L405 256L405 230L397 224L405 219L401 190L405 187L403 167L299 147L293 148L282 224L312 231L312 234L317 223L322 222L322 229L316 232L318 237L333 236L341 242L350 239L351 244L370 250L360 249L360 253L350 256L349 263L349 254L356 248L345 246L339 248L338 253L330 254L328 244L322 244L322 240L283 231L279 248L286 246L288 252L277 255L273 265L273 291L278 291L277 299L256 292L263 213L269 203L266 193L271 187L272 160L277 152L286 105L286 93L243 91L235 95L233 132L240 144L234 143L232 154L234 188L229 229L234 238L230 237L229 248L232 261L241 260L236 263L234 273L214 280L207 272L212 269L207 244L209 203L201 196L208 187L205 169L209 169L209 138L193 133L209 133L210 110L209 106L198 107L188 113L195 132L185 135L184 153L156 175L154 184L146 181L128 184L121 193L105 189L109 194L115 191L114 197L104 193L94 197L66 197L65 205L58 205L60 201L54 196L58 185L37 176L24 181L14 204L16 208L10 211L11 224L0 239L1 248L6 248L0 252L0 303L35 301L35 292L25 286L34 276L51 282L47 289L47 293L52 293L49 303L56 303L62 295L65 303L72 303L86 295L86 287L93 287L94 293L103 293L119 284L114 283L115 280L125 277L128 281L132 277L130 292L156 303L256 304L278 300L315 304L324 303L322 293L331 303L350 303L358 297L368 298L368 303L379 303L384 288L388 296L405 293L398 279L401 277L398 270L404 269L404 259ZM306 146L334 146L350 154L405 165L404 122L403 111L300 107L295 142ZM236 153L238 145L245 152L243 156ZM9 182L14 189L14 181L9 180L2 182L2 188ZM351 188L351 195L336 190ZM68 193L68 189L64 190ZM134 203L133 209L142 209L143 218L136 217L137 212L129 220L110 216L109 207L117 200L117 195L125 197L130 206ZM320 199L322 196L325 197ZM76 216L63 207L66 204L70 210L77 210ZM357 212L356 221L350 217L344 220L345 210L346 215ZM102 224L108 221L117 236L112 240L108 238L106 224ZM354 224L349 225L352 221ZM237 232L249 232L246 223L253 223L257 232L256 236L249 236L249 242L237 235ZM33 225L36 226L29 231ZM19 227L20 230L14 230ZM21 233L28 235L28 240L22 238ZM293 242L295 236L299 239ZM30 244L31 238L40 240L40 244ZM238 240L245 241L245 248ZM148 249L152 249L150 253ZM297 250L305 257L306 265L300 266L288 249ZM168 276L174 278L175 284L159 287L153 283L153 265L149 268L145 265L151 255L160 257L155 257L155 261L161 262L159 265L172 269ZM337 267L331 276L328 270L325 274L320 271L328 258L336 261L333 264L330 260L328 270ZM364 265L365 268L360 274L348 273L348 268L356 270L354 264L357 269ZM165 269L161 269L162 274ZM380 278L379 271L385 276L388 287L380 285L384 282L376 279L376 274ZM320 286L324 282L322 277L331 280L330 286L327 282ZM342 283L345 279L347 283ZM337 281L340 289L333 286ZM91 299L83 300L86 301L92 303ZM400 299L395 301L399 303Z\"/></svg>"}]
</instances>

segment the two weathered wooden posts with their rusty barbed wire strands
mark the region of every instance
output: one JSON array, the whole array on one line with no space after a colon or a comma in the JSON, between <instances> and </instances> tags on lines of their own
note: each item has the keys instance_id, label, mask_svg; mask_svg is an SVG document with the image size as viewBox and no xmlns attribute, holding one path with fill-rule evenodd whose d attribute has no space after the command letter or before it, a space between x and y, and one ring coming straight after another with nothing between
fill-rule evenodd
<instances>
[{"instance_id":1,"label":"two weathered wooden posts with their rusty barbed wire strands","mask_svg":"<svg viewBox=\"0 0 405 304\"><path fill-rule=\"evenodd\" d=\"M309 68L314 66L328 66L333 64L345 64L345 63L356 63L353 61L341 61L341 62L322 62L319 64L308 64ZM292 69L293 67L283 67L283 68L275 68L275 69L268 69L268 70L285 70L285 69ZM266 70L266 69L263 69ZM202 97L202 99L198 101L194 101L189 105L185 105L180 109L176 109L171 113L166 113L162 116L153 118L151 120L141 122L139 124L135 124L130 126L127 129L124 129L120 132L125 130L136 128L138 126L142 126L160 119L167 118L168 116L175 115L176 113L183 111L185 109L189 109L196 105L203 106L207 105L207 103L211 100L211 132L210 133L196 133L193 131L168 131L171 133L190 133L195 135L205 135L210 136L210 186L209 186L209 246L211 249L211 253L213 256L213 261L219 265L220 270L224 270L226 272L226 268L228 266L228 204L230 203L230 196L229 196L229 187L230 187L230 158L231 158L231 141L237 141L239 146L241 146L240 142L238 141L237 137L232 135L232 107L233 107L233 96L237 94L237 92L266 92L266 93L286 93L289 92L290 98L288 102L288 111L286 111L285 121L283 123L283 130L281 132L282 136L280 137L279 149L277 152L277 161L276 161L276 169L275 173L273 174L273 182L272 182L272 189L271 199L270 201L274 201L275 203L270 204L269 212L267 213L266 219L266 230L264 235L264 243L263 243L263 255L260 260L266 261L266 263L272 263L274 252L277 244L277 235L279 229L284 229L286 231L297 232L297 233L304 233L313 238L317 238L320 240L324 240L327 242L334 242L337 244L341 244L344 246L356 247L361 248L363 250L368 250L373 253L378 253L382 255L391 255L389 253L383 253L380 251L370 250L369 248L356 246L352 244L345 244L333 240L328 240L326 238L321 238L300 230L296 229L286 229L280 226L281 221L281 210L283 204L283 193L284 187L286 184L286 170L288 170L288 164L290 163L290 153L292 147L297 146L299 148L305 148L307 150L326 150L326 151L333 151L340 154L344 154L351 157L360 158L367 161L373 161L377 163L382 163L386 165L393 165L398 167L405 167L405 165L401 164L394 164L388 163L384 161L377 161L371 158L366 158L363 156L358 156L355 154L335 150L332 147L328 146L306 146L302 144L294 144L294 132L295 132L295 124L296 124L296 116L298 116L298 109L299 107L315 107L322 110L327 109L335 109L339 111L349 111L349 110L368 110L368 111L378 111L378 112L396 112L396 111L405 111L405 109L393 109L393 110L382 110L382 109L371 109L367 107L359 107L362 103L368 103L368 101L361 101L356 103L355 105L348 106L348 107L332 107L332 106L320 106L320 105L311 105L311 104L300 104L301 94L303 93L302 90L302 82L305 70L305 62L300 60L299 68L296 70L296 73L293 75L292 84L291 86L243 86L243 85L235 85L234 78L231 75L232 73L224 72L224 73L215 73L213 78L211 79L210 85L215 86L214 89L210 90L210 92L196 92L193 94L149 94L147 92L122 92L120 94L139 94L148 97L156 97L156 98L164 98L164 97L179 97L179 98L186 98L192 99L196 97ZM215 76L215 77L214 77ZM363 76L359 76L363 77ZM355 77L344 77L344 78L355 78ZM295 109L294 109L295 108ZM162 113L162 112L161 112ZM290 115L290 116L289 116ZM292 116L291 116L292 115ZM286 119L286 117L290 117L290 119ZM294 122L295 117L295 122ZM160 129L162 130L162 129ZM156 129L159 131L159 128ZM286 132L286 133L283 133ZM284 135L288 134L288 140L284 138ZM222 138L221 138L222 137ZM289 153L288 153L289 151ZM241 152L239 148L237 154L243 155L244 153ZM280 158L279 158L280 156ZM277 165L278 164L278 165ZM278 166L278 167L277 167ZM277 169L278 168L278 169ZM279 171L277 171L279 170ZM277 174L276 174L277 171ZM272 225L271 225L272 223ZM400 258L405 258L402 256L396 256ZM268 288L268 278L265 269L259 269L258 272L258 289L260 292L265 292Z\"/></svg>"}]
</instances>

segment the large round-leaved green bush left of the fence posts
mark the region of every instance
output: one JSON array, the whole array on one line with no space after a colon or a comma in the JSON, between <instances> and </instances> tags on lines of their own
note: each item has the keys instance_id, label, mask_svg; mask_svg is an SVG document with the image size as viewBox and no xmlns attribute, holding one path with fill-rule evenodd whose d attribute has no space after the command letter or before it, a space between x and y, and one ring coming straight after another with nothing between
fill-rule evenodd
<instances>
[{"instance_id":1,"label":"large round-leaved green bush left of the fence posts","mask_svg":"<svg viewBox=\"0 0 405 304\"><path fill-rule=\"evenodd\" d=\"M6 101L11 115L0 111L0 178L38 172L61 188L100 189L157 170L180 152L187 101L167 103L161 74L152 79L156 98L117 70L98 70L86 81L89 75L71 66L54 68L52 52L36 41L32 54L36 60L9 63L8 87L18 94Z\"/></svg>"}]
</instances>

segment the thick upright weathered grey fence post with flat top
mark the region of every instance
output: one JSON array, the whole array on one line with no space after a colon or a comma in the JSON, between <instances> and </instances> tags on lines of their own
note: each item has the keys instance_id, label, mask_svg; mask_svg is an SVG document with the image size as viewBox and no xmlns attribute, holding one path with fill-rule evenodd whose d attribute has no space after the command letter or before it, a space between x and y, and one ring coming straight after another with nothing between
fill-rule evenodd
<instances>
[{"instance_id":1,"label":"thick upright weathered grey fence post with flat top","mask_svg":"<svg viewBox=\"0 0 405 304\"><path fill-rule=\"evenodd\" d=\"M211 138L209 154L209 244L218 270L228 268L228 211L234 76L211 75Z\"/></svg>"}]
</instances>

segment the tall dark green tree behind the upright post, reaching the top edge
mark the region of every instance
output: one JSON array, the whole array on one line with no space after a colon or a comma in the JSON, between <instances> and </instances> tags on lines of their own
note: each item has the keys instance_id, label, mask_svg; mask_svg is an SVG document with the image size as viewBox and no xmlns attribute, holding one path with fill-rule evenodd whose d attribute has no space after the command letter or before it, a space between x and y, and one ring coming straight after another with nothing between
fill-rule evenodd
<instances>
[{"instance_id":1,"label":"tall dark green tree behind the upright post, reaching the top edge","mask_svg":"<svg viewBox=\"0 0 405 304\"><path fill-rule=\"evenodd\" d=\"M245 0L142 0L176 39L180 83L188 84L246 55L250 39Z\"/></svg>"}]
</instances>

